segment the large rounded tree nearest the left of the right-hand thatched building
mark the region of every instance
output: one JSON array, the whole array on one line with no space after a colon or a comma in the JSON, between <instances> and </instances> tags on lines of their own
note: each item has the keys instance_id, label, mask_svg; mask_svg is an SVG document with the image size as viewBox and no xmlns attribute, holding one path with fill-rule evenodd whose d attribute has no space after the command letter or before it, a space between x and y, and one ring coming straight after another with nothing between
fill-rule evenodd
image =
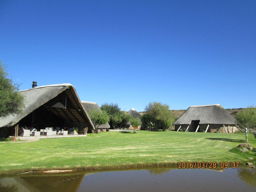
<instances>
[{"instance_id":1,"label":"large rounded tree nearest the left of the right-hand thatched building","mask_svg":"<svg viewBox=\"0 0 256 192\"><path fill-rule=\"evenodd\" d=\"M176 117L169 110L169 105L160 102L150 102L141 116L142 129L158 131L172 126Z\"/></svg>"}]
</instances>

